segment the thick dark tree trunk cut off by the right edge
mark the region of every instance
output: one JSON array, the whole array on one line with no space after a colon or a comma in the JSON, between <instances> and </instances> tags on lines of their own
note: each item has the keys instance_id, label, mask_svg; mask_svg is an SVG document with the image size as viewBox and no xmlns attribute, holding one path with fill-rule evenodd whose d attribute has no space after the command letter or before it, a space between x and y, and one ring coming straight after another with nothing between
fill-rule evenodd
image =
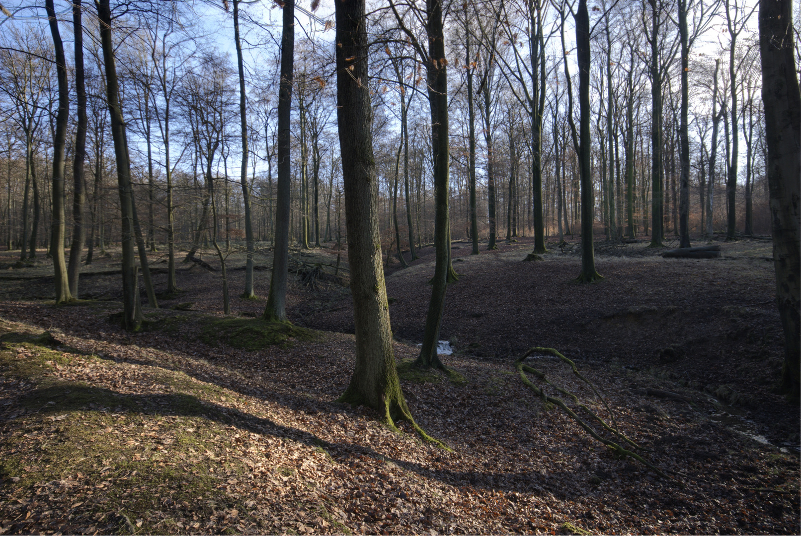
<instances>
[{"instance_id":1,"label":"thick dark tree trunk cut off by the right edge","mask_svg":"<svg viewBox=\"0 0 801 536\"><path fill-rule=\"evenodd\" d=\"M784 329L781 388L799 397L801 377L801 95L795 74L791 0L759 2L759 53L767 138L767 181L776 270L776 304Z\"/></svg>"}]
</instances>

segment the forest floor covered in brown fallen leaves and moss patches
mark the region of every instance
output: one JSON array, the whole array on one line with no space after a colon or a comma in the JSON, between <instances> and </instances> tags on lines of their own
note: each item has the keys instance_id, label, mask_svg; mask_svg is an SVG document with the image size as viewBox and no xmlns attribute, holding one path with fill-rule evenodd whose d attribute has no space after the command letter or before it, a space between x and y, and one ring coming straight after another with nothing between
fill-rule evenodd
<instances>
[{"instance_id":1,"label":"forest floor covered in brown fallen leaves and moss patches","mask_svg":"<svg viewBox=\"0 0 801 536\"><path fill-rule=\"evenodd\" d=\"M521 262L532 245L517 240L478 256L454 244L440 338L459 374L401 374L417 422L453 451L334 402L354 341L347 258L334 276L331 244L292 252L299 327L278 331L257 318L264 298L232 298L223 317L209 254L218 270L179 264L184 293L145 303L129 334L110 321L119 251L85 268L67 306L52 305L43 252L33 265L0 252L0 534L799 534L799 404L774 392L771 243L698 261L598 242L605 278L579 285L577 245ZM266 296L270 252L256 264ZM228 265L236 296L241 252ZM417 355L432 274L431 247L387 270L399 363ZM606 403L561 361L529 364L671 478L544 406L513 365L531 346L573 359Z\"/></svg>"}]
</instances>

